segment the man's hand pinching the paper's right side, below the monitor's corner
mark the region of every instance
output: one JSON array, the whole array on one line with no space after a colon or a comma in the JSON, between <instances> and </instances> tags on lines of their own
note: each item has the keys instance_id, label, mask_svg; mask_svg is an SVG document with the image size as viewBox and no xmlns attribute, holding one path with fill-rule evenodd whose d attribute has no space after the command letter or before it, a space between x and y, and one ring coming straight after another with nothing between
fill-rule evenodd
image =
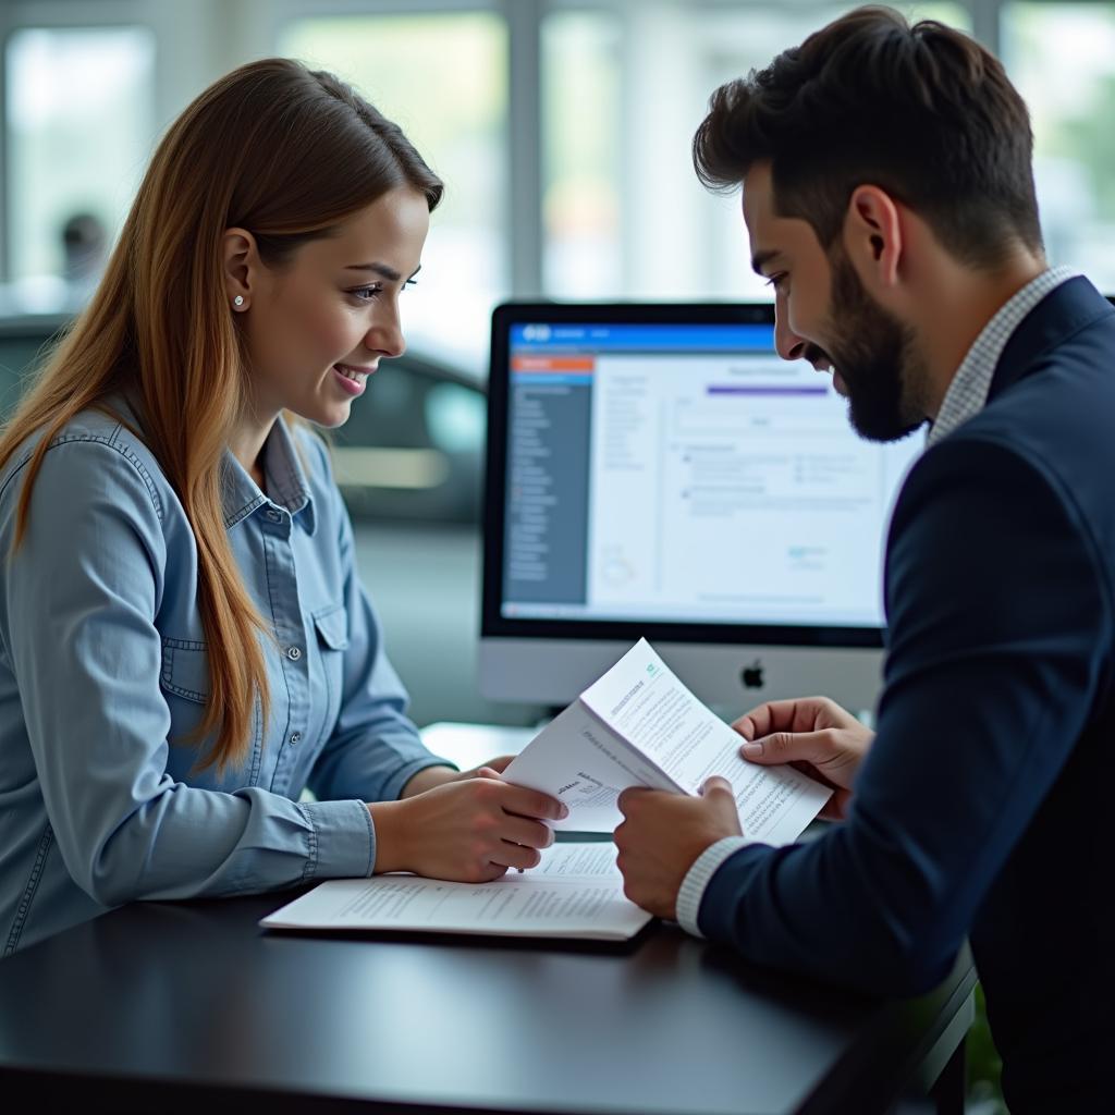
<instances>
[{"instance_id":1,"label":"man's hand pinching the paper's right side, below the monitor's corner","mask_svg":"<svg viewBox=\"0 0 1115 1115\"><path fill-rule=\"evenodd\" d=\"M831 786L821 816L843 821L852 801L860 764L875 734L827 697L775 700L752 709L733 724L748 743L739 754L749 763L789 763Z\"/></svg>"}]
</instances>

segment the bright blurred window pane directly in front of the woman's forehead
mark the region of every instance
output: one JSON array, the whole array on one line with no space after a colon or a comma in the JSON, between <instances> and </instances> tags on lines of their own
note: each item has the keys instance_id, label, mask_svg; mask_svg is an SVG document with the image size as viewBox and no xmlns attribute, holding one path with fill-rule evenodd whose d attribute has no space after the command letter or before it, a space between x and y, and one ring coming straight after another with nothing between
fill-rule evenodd
<instances>
[{"instance_id":1,"label":"bright blurred window pane directly in front of the woman's forehead","mask_svg":"<svg viewBox=\"0 0 1115 1115\"><path fill-rule=\"evenodd\" d=\"M411 343L486 371L492 307L510 293L507 28L492 12L299 19L279 51L351 81L446 183L407 295Z\"/></svg>"}]
</instances>

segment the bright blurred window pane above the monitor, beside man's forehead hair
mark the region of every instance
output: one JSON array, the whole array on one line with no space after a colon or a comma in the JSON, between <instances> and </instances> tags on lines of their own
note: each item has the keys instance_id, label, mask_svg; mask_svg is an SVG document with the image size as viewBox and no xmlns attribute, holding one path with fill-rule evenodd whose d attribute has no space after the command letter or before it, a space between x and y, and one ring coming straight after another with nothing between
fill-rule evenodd
<instances>
[{"instance_id":1,"label":"bright blurred window pane above the monitor, beside man's forehead hair","mask_svg":"<svg viewBox=\"0 0 1115 1115\"><path fill-rule=\"evenodd\" d=\"M739 197L706 193L709 94L856 7L611 4L542 22L544 288L553 298L768 299ZM971 29L958 3L898 4Z\"/></svg>"}]
</instances>

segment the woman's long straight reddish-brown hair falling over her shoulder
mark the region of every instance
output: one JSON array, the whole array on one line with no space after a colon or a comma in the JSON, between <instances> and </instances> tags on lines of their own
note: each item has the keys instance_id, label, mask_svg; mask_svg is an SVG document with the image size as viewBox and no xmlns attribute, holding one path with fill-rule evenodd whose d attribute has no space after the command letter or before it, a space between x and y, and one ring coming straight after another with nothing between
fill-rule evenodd
<instances>
[{"instance_id":1,"label":"woman's long straight reddish-brown hair falling over her shoulder","mask_svg":"<svg viewBox=\"0 0 1115 1115\"><path fill-rule=\"evenodd\" d=\"M330 74L269 58L206 89L171 126L144 176L105 275L0 434L0 468L36 432L13 546L51 440L79 411L124 392L197 543L210 700L194 734L215 739L200 768L240 765L252 710L269 700L253 605L232 554L221 460L246 405L248 353L225 293L222 236L249 230L269 266L397 186L442 183L399 128Z\"/></svg>"}]
</instances>

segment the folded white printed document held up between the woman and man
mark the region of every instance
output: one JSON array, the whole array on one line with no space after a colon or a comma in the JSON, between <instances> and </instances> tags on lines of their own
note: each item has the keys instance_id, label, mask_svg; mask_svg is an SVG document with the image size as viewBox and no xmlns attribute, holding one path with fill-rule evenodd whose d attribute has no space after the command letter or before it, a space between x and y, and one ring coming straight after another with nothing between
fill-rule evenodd
<instances>
[{"instance_id":1,"label":"folded white printed document held up between the woman and man","mask_svg":"<svg viewBox=\"0 0 1115 1115\"><path fill-rule=\"evenodd\" d=\"M744 835L789 844L832 791L789 766L739 755L739 735L702 705L640 639L516 756L504 778L569 806L555 828L611 832L620 791L697 794L714 774L731 783Z\"/></svg>"}]
</instances>

